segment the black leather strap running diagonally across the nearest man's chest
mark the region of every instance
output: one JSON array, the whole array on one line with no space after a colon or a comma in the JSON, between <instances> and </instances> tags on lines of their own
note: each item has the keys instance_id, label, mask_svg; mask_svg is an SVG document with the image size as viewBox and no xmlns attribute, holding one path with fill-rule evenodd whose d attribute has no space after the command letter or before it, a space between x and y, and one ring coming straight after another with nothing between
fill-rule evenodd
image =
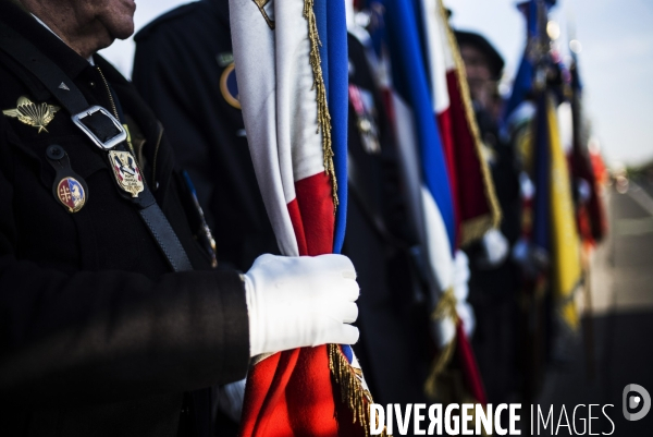
<instances>
[{"instance_id":1,"label":"black leather strap running diagonally across the nearest man's chest","mask_svg":"<svg viewBox=\"0 0 653 437\"><path fill-rule=\"evenodd\" d=\"M71 116L89 108L88 101L79 88L54 62L2 22L0 22L0 49L32 72ZM126 150L124 143L115 148ZM193 270L186 251L149 191L147 183L134 203L170 267L174 271Z\"/></svg>"}]
</instances>

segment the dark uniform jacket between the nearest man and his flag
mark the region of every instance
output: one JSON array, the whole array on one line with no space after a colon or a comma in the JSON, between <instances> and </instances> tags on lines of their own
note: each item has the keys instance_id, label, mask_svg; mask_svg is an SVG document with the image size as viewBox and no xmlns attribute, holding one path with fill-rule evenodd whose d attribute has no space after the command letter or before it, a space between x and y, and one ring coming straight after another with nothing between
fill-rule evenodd
<instances>
[{"instance_id":1,"label":"dark uniform jacket between the nearest man and his flag","mask_svg":"<svg viewBox=\"0 0 653 437\"><path fill-rule=\"evenodd\" d=\"M229 1L182 5L136 37L134 85L165 125L218 241L218 258L248 269L279 253L247 147Z\"/></svg>"}]
</instances>

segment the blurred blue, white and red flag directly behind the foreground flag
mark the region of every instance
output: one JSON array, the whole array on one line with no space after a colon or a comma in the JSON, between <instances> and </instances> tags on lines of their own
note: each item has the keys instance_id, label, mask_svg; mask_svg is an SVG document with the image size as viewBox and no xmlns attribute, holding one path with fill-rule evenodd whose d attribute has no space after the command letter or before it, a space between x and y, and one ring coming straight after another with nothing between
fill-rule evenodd
<instances>
[{"instance_id":1,"label":"blurred blue, white and red flag directly behind the foreground flag","mask_svg":"<svg viewBox=\"0 0 653 437\"><path fill-rule=\"evenodd\" d=\"M383 5L392 63L393 89L389 100L392 102L406 199L423 251L424 265L429 267L427 274L434 305L432 327L440 348L426 390L430 396L436 394L436 381L455 353L469 393L478 402L485 403L482 381L465 332L465 325L469 328L470 324L460 323L468 309L464 301L469 270L466 256L458 251L460 227L457 223L461 197L459 185L455 185L455 191L452 189L459 182L454 173L458 167L453 165L455 161L449 150L453 138L441 132L444 128L448 135L447 123L453 124L455 114L452 111L447 116L454 101L447 83L447 69L452 64L445 62L446 47L433 45L432 39L438 37L438 41L442 43L445 35L443 23L431 20L434 12L441 13L435 7L442 8L442 4L385 0ZM430 16L426 19L426 14ZM421 20L426 20L424 26ZM427 26L430 29L424 41L418 29ZM429 53L426 59L424 52ZM438 82L435 76L440 77ZM442 117L439 118L439 114ZM479 190L484 195L482 185ZM473 192L473 195L478 193Z\"/></svg>"}]
</instances>

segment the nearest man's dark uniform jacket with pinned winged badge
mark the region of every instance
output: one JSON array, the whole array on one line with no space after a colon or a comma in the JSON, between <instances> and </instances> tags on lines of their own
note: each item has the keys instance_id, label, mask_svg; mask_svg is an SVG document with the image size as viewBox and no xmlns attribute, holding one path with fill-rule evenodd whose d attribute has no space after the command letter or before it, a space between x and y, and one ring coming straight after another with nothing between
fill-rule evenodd
<instances>
[{"instance_id":1,"label":"nearest man's dark uniform jacket with pinned winged badge","mask_svg":"<svg viewBox=\"0 0 653 437\"><path fill-rule=\"evenodd\" d=\"M0 21L54 61L90 105L110 109L103 74L140 130L147 184L205 270L170 271L120 195L106 153L64 109L40 133L0 114L0 435L175 436L185 391L245 376L241 277L208 269L171 147L132 85L95 56L101 74L12 3L0 1ZM16 108L21 96L59 105L0 50L0 109ZM78 213L53 195L52 144L88 186ZM198 409L189 414L199 428L208 421Z\"/></svg>"}]
</instances>

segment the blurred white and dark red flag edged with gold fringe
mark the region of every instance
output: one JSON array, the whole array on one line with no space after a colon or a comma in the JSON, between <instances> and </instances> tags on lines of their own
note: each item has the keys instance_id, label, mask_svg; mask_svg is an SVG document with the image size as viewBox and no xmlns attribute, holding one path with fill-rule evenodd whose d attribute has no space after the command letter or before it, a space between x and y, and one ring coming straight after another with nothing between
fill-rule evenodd
<instances>
[{"instance_id":1,"label":"blurred white and dark red flag edged with gold fringe","mask_svg":"<svg viewBox=\"0 0 653 437\"><path fill-rule=\"evenodd\" d=\"M498 226L501 211L482 144L465 65L442 0L420 0L433 112L438 120L453 194L455 246Z\"/></svg>"}]
</instances>

